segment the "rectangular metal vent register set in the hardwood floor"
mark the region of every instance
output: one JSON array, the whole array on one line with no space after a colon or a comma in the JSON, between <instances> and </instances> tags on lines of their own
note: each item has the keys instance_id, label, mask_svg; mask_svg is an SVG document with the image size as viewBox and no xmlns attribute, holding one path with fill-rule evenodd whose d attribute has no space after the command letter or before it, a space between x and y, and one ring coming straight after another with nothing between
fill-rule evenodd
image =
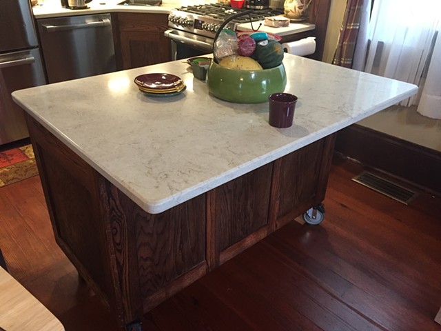
<instances>
[{"instance_id":1,"label":"rectangular metal vent register set in the hardwood floor","mask_svg":"<svg viewBox=\"0 0 441 331\"><path fill-rule=\"evenodd\" d=\"M409 204L413 197L416 196L416 192L403 188L396 183L392 183L391 181L378 177L368 171L362 172L358 176L353 177L352 180L361 185L365 185L367 188L371 188L376 192L384 194L389 198L404 203L404 205Z\"/></svg>"}]
</instances>

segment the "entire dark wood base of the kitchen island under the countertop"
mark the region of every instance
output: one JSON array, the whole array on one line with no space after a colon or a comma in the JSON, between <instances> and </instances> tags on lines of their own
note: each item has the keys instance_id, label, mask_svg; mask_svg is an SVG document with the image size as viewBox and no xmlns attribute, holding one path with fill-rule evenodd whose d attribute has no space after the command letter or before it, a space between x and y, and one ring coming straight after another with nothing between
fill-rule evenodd
<instances>
[{"instance_id":1,"label":"entire dark wood base of the kitchen island under the countertop","mask_svg":"<svg viewBox=\"0 0 441 331\"><path fill-rule=\"evenodd\" d=\"M334 135L149 214L26 115L55 239L121 325L325 197Z\"/></svg>"}]
</instances>

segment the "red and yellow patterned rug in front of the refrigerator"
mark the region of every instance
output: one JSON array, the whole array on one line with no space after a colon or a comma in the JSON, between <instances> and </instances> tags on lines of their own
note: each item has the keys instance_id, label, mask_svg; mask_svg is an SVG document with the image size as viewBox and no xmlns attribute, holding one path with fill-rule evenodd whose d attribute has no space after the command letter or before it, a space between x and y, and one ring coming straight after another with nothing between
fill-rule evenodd
<instances>
[{"instance_id":1,"label":"red and yellow patterned rug in front of the refrigerator","mask_svg":"<svg viewBox=\"0 0 441 331\"><path fill-rule=\"evenodd\" d=\"M39 174L31 145L0 152L0 188Z\"/></svg>"}]
</instances>

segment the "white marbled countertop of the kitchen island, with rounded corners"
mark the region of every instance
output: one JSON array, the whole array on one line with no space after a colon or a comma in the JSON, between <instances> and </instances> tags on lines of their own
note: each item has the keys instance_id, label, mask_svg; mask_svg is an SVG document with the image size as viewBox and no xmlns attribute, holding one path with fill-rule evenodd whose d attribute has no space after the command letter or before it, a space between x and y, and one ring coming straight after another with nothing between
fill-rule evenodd
<instances>
[{"instance_id":1,"label":"white marbled countertop of the kitchen island, with rounded corners","mask_svg":"<svg viewBox=\"0 0 441 331\"><path fill-rule=\"evenodd\" d=\"M220 101L184 61L12 93L45 128L145 211L156 214L345 128L417 87L286 54L291 128L268 124L268 103ZM147 97L139 74L167 72L187 90Z\"/></svg>"}]
</instances>

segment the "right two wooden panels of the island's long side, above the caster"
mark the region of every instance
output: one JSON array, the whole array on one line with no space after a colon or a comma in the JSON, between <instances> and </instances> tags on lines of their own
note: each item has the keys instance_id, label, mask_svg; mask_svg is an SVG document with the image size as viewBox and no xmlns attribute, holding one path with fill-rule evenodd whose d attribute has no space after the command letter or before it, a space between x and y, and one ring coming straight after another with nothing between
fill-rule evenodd
<instances>
[{"instance_id":1,"label":"right two wooden panels of the island's long side, above the caster","mask_svg":"<svg viewBox=\"0 0 441 331\"><path fill-rule=\"evenodd\" d=\"M213 270L325 199L335 135L207 192Z\"/></svg>"}]
</instances>

